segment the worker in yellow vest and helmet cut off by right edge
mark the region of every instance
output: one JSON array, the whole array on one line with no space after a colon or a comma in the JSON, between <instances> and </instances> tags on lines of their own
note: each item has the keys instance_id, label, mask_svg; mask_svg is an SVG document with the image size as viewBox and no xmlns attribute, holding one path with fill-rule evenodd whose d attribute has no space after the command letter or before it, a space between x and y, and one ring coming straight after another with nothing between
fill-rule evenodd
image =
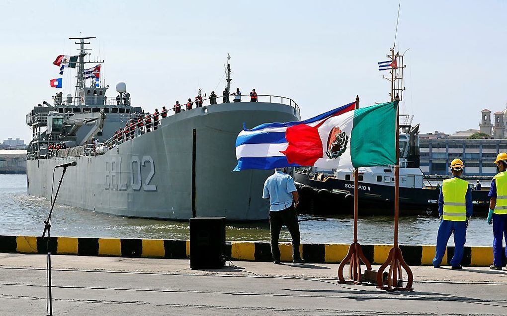
<instances>
[{"instance_id":1,"label":"worker in yellow vest and helmet cut off by right edge","mask_svg":"<svg viewBox=\"0 0 507 316\"><path fill-rule=\"evenodd\" d=\"M493 270L501 270L503 241L507 244L507 153L499 153L496 156L496 169L498 173L491 181L491 189L488 196L489 202L488 224L493 223L493 264L489 267ZM507 249L505 249L507 255Z\"/></svg>"}]
</instances>

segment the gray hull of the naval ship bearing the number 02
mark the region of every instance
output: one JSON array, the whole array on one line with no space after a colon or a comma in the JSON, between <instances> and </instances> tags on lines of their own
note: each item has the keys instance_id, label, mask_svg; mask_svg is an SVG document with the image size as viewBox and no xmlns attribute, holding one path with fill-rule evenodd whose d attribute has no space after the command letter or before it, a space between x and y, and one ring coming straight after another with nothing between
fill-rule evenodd
<instances>
[{"instance_id":1,"label":"gray hull of the naval ship bearing the number 02","mask_svg":"<svg viewBox=\"0 0 507 316\"><path fill-rule=\"evenodd\" d=\"M237 134L243 122L251 128L299 119L293 107L273 103L219 104L171 115L157 130L103 155L27 160L28 194L50 198L54 167L76 160L57 203L131 217L265 220L269 203L262 189L272 172L232 171ZM56 170L55 187L62 168Z\"/></svg>"}]
</instances>

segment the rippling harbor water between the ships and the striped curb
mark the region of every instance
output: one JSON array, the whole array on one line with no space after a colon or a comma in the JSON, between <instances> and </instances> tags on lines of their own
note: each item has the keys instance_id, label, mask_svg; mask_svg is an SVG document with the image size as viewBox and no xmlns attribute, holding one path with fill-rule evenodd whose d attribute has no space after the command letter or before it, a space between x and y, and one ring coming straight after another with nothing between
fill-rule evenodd
<instances>
[{"instance_id":1,"label":"rippling harbor water between the ships and the striped curb","mask_svg":"<svg viewBox=\"0 0 507 316\"><path fill-rule=\"evenodd\" d=\"M261 192L259 193L261 194ZM25 174L0 174L0 235L41 235L49 211L45 198L26 194ZM361 244L390 244L393 218L361 217L358 237ZM351 243L353 218L350 216L300 219L303 243ZM188 222L128 218L56 204L52 215L53 236L188 239ZM399 241L407 245L432 245L437 239L439 219L425 216L401 217ZM231 223L227 240L269 241L269 223ZM473 217L467 230L468 246L491 246L492 231L484 217ZM280 240L290 240L284 228ZM452 238L449 245L453 245Z\"/></svg>"}]
</instances>

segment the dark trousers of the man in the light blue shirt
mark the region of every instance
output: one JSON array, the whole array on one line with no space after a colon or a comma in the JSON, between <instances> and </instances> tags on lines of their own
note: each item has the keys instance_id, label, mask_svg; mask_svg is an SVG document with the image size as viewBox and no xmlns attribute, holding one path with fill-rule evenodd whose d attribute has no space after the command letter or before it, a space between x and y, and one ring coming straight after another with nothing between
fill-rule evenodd
<instances>
[{"instance_id":1,"label":"dark trousers of the man in the light blue shirt","mask_svg":"<svg viewBox=\"0 0 507 316\"><path fill-rule=\"evenodd\" d=\"M299 234L298 214L294 205L281 210L269 212L269 226L271 228L271 254L273 260L280 260L280 249L278 248L278 239L282 225L288 229L292 237L292 257L293 259L301 259L299 253L299 244L301 244L301 236Z\"/></svg>"}]
</instances>

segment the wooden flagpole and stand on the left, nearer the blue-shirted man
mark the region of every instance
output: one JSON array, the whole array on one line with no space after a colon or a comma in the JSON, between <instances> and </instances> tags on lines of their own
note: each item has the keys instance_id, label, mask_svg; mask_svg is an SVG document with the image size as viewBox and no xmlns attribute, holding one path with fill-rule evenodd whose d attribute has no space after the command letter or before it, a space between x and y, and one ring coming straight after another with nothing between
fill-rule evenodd
<instances>
[{"instance_id":1,"label":"wooden flagpole and stand on the left, nearer the blue-shirted man","mask_svg":"<svg viewBox=\"0 0 507 316\"><path fill-rule=\"evenodd\" d=\"M359 96L355 98L355 108L359 108ZM340 266L338 267L338 280L340 283L345 282L353 282L355 284L361 283L361 261L366 265L367 270L372 269L372 265L365 257L363 253L363 249L361 245L357 242L357 207L358 207L358 198L359 198L359 184L358 184L358 168L354 170L354 241L349 247L349 251L345 258L343 258L342 262L340 262ZM349 268L349 279L345 280L343 277L343 268L345 264L350 262Z\"/></svg>"}]
</instances>

